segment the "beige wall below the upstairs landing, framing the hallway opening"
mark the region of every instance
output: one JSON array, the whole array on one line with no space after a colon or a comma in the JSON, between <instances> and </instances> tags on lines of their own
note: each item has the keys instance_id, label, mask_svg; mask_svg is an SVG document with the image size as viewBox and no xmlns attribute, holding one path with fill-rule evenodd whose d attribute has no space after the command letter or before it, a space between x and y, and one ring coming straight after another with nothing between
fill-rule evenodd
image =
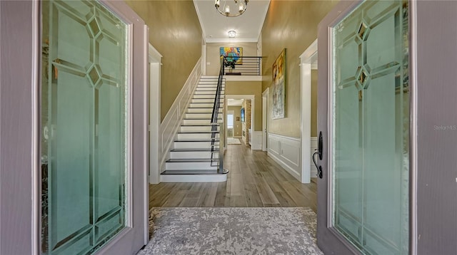
<instances>
[{"instance_id":1,"label":"beige wall below the upstairs landing, framing the hallway opening","mask_svg":"<svg viewBox=\"0 0 457 255\"><path fill-rule=\"evenodd\" d=\"M226 95L254 95L254 131L261 131L262 83L260 81L226 81L225 92Z\"/></svg>"}]
</instances>

